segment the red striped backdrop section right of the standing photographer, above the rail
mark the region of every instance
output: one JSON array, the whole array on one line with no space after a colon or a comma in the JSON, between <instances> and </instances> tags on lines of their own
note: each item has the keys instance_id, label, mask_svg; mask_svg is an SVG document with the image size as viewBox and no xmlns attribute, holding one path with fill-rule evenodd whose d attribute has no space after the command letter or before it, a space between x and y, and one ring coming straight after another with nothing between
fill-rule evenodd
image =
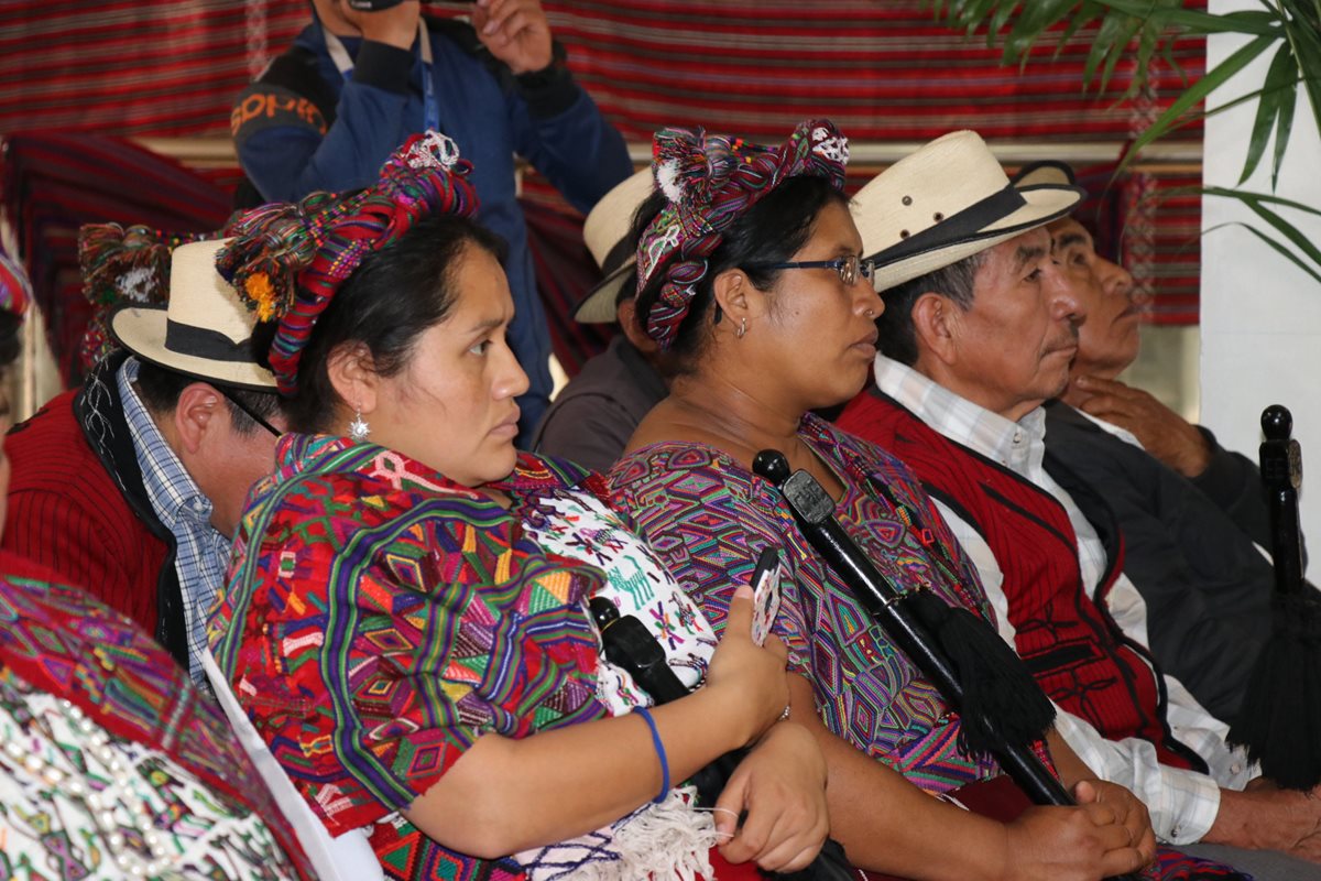
<instances>
[{"instance_id":1,"label":"red striped backdrop section right of the standing photographer, above the rail","mask_svg":"<svg viewBox=\"0 0 1321 881\"><path fill-rule=\"evenodd\" d=\"M926 140L975 128L988 140L1123 141L1182 90L1166 67L1153 94L1115 104L1129 85L1125 61L1111 83L1115 94L1083 95L1089 30L1074 34L1055 61L1052 48L1038 50L1020 75L999 66L999 50L934 21L914 0L547 0L546 7L556 36L572 48L575 73L630 140L649 140L674 123L782 136L820 115L857 140ZM1173 57L1198 75L1203 53L1199 41L1188 41Z\"/></svg>"}]
</instances>

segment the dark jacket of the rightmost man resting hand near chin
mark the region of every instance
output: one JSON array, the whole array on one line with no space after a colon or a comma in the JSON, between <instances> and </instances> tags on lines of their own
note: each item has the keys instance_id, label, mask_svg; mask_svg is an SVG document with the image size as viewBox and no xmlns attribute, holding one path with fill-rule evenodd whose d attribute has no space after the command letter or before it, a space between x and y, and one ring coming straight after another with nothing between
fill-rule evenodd
<instances>
[{"instance_id":1,"label":"dark jacket of the rightmost man resting hand near chin","mask_svg":"<svg viewBox=\"0 0 1321 881\"><path fill-rule=\"evenodd\" d=\"M1256 469L1217 448L1214 473L1202 481L1217 503L1061 402L1046 405L1046 449L1118 516L1124 573L1147 601L1152 654L1215 717L1234 719L1271 631L1275 576L1252 544L1269 547Z\"/></svg>"}]
</instances>

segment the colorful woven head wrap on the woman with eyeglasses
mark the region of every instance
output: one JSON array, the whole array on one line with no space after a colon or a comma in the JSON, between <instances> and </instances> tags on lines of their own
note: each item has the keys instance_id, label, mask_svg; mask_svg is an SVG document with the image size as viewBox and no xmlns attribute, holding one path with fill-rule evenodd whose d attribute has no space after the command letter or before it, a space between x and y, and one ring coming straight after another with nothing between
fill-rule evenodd
<instances>
[{"instance_id":1,"label":"colorful woven head wrap on the woman with eyeglasses","mask_svg":"<svg viewBox=\"0 0 1321 881\"><path fill-rule=\"evenodd\" d=\"M824 177L843 189L848 139L826 119L801 123L779 147L746 144L700 128L666 128L657 132L653 152L657 185L670 203L638 242L638 291L678 255L647 314L647 334L668 349L707 275L707 258L720 247L729 225L791 177Z\"/></svg>"}]
</instances>

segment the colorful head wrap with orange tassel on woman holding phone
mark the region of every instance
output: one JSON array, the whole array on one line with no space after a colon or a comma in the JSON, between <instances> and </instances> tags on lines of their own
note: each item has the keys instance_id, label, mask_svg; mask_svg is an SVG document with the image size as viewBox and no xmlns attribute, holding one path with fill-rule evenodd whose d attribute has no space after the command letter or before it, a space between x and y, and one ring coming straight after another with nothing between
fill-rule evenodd
<instances>
[{"instance_id":1,"label":"colorful head wrap with orange tassel on woman holding phone","mask_svg":"<svg viewBox=\"0 0 1321 881\"><path fill-rule=\"evenodd\" d=\"M473 217L472 164L439 132L413 135L380 168L375 186L349 197L313 193L264 205L226 229L235 236L215 268L259 321L280 322L269 362L280 391L297 388L299 359L317 318L363 258L399 240L432 214Z\"/></svg>"}]
</instances>

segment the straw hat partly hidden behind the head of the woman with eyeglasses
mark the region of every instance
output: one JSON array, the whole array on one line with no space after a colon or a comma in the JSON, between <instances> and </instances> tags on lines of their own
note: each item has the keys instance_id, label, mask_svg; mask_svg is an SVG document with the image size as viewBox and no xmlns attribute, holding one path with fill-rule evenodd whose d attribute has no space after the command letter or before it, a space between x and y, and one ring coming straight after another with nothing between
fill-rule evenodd
<instances>
[{"instance_id":1,"label":"straw hat partly hidden behind the head of the woman with eyeglasses","mask_svg":"<svg viewBox=\"0 0 1321 881\"><path fill-rule=\"evenodd\" d=\"M601 197L583 225L583 239L592 259L606 273L573 308L573 320L581 324L610 324L616 320L620 288L638 262L635 248L627 247L633 214L655 190L651 166L642 169Z\"/></svg>"}]
</instances>

